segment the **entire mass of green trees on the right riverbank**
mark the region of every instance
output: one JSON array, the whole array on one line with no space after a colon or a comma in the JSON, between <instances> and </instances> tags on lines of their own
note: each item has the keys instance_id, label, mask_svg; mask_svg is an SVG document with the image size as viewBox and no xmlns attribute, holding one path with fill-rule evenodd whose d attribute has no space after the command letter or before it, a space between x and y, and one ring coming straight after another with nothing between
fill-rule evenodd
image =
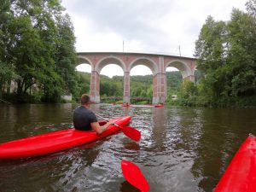
<instances>
[{"instance_id":1,"label":"entire mass of green trees on the right riverbank","mask_svg":"<svg viewBox=\"0 0 256 192\"><path fill-rule=\"evenodd\" d=\"M201 94L209 98L255 96L256 17L255 0L247 2L247 13L233 9L228 21L211 16L195 43L197 65L204 73Z\"/></svg>"}]
</instances>

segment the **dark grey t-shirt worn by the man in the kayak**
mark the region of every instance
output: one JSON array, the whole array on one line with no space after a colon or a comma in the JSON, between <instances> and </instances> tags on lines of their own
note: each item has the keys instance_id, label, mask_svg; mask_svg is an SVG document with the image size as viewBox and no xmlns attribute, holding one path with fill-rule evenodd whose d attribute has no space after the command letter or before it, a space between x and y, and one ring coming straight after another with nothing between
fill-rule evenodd
<instances>
[{"instance_id":1,"label":"dark grey t-shirt worn by the man in the kayak","mask_svg":"<svg viewBox=\"0 0 256 192\"><path fill-rule=\"evenodd\" d=\"M91 131L90 123L94 122L97 122L97 118L90 109L79 106L73 111L73 125L76 130Z\"/></svg>"}]
</instances>

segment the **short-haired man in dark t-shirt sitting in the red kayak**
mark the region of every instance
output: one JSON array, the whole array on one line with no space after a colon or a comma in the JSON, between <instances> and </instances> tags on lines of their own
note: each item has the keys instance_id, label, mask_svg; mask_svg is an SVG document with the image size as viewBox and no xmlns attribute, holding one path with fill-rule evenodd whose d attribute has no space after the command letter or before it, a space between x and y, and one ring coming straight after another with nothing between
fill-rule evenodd
<instances>
[{"instance_id":1,"label":"short-haired man in dark t-shirt sitting in the red kayak","mask_svg":"<svg viewBox=\"0 0 256 192\"><path fill-rule=\"evenodd\" d=\"M90 108L90 96L83 94L80 99L81 105L73 111L73 125L76 130L80 131L96 131L97 134L108 129L109 125L114 123L109 121L105 125L100 125L96 114Z\"/></svg>"}]
</instances>

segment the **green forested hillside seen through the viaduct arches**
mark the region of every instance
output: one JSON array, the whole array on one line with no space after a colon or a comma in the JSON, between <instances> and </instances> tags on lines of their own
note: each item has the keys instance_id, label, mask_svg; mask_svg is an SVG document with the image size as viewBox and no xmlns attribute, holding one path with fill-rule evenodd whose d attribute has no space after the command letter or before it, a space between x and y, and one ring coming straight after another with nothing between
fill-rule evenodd
<instances>
[{"instance_id":1,"label":"green forested hillside seen through the viaduct arches","mask_svg":"<svg viewBox=\"0 0 256 192\"><path fill-rule=\"evenodd\" d=\"M79 94L77 98L84 93L90 91L90 73L77 72L79 76ZM200 75L200 73L198 73ZM101 96L119 96L123 97L124 87L123 76L108 76L101 75L100 81L100 95ZM196 79L199 79L197 77ZM131 76L130 91L131 97L152 97L153 96L153 75L137 75ZM182 75L178 71L166 72L167 90L170 94L177 94L182 84Z\"/></svg>"}]
</instances>

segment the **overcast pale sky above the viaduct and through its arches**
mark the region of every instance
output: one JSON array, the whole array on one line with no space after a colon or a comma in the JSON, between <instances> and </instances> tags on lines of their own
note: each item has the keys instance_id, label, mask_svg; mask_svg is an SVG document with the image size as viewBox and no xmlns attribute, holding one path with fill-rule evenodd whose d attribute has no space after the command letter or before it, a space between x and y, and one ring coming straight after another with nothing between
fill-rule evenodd
<instances>
[{"instance_id":1,"label":"overcast pale sky above the viaduct and through its arches","mask_svg":"<svg viewBox=\"0 0 256 192\"><path fill-rule=\"evenodd\" d=\"M207 16L212 15L214 20L230 20L232 8L245 10L246 2L62 0L61 4L71 16L78 52L122 52L124 49L125 52L193 56L195 41Z\"/></svg>"}]
</instances>

